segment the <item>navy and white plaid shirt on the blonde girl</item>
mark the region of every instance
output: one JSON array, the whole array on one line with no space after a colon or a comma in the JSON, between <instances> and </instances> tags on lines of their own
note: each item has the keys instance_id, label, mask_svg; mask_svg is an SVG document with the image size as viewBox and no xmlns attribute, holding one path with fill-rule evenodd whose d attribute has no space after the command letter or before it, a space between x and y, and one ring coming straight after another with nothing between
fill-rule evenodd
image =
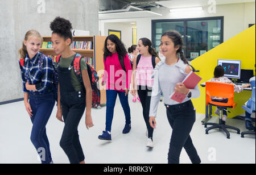
<instances>
[{"instance_id":1,"label":"navy and white plaid shirt on the blonde girl","mask_svg":"<svg viewBox=\"0 0 256 175\"><path fill-rule=\"evenodd\" d=\"M36 86L38 91L31 91L32 93L45 94L48 91L53 91L54 62L49 57L43 55L42 52L38 52L32 59L26 55L24 65L21 66L19 61L19 66L24 93L28 92L25 86L26 82Z\"/></svg>"}]
</instances>

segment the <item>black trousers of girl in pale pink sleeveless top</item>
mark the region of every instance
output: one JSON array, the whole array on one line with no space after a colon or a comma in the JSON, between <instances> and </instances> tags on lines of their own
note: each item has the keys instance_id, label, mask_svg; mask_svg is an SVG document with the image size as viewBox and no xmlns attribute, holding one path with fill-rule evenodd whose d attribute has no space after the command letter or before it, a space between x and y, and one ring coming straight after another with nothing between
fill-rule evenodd
<instances>
[{"instance_id":1,"label":"black trousers of girl in pale pink sleeveless top","mask_svg":"<svg viewBox=\"0 0 256 175\"><path fill-rule=\"evenodd\" d=\"M153 139L154 129L149 123L149 113L150 113L150 101L151 101L152 87L148 86L138 86L138 95L141 100L141 105L143 109L143 117L147 126L148 138Z\"/></svg>"}]
</instances>

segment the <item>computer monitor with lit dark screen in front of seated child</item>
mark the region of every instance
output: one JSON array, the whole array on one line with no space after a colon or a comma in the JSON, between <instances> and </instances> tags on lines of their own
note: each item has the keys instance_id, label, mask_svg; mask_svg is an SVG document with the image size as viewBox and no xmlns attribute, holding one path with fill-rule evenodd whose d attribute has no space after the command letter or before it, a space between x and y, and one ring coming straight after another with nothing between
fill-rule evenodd
<instances>
[{"instance_id":1,"label":"computer monitor with lit dark screen in front of seated child","mask_svg":"<svg viewBox=\"0 0 256 175\"><path fill-rule=\"evenodd\" d=\"M221 60L218 59L218 65L222 65L225 74L224 77L240 79L241 76L241 60Z\"/></svg>"}]
</instances>

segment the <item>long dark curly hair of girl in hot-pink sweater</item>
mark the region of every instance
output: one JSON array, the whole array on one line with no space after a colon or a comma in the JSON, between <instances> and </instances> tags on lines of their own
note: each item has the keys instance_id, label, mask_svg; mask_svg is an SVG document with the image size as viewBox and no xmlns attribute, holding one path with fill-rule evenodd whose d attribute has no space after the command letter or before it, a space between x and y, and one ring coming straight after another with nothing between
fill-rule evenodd
<instances>
[{"instance_id":1,"label":"long dark curly hair of girl in hot-pink sweater","mask_svg":"<svg viewBox=\"0 0 256 175\"><path fill-rule=\"evenodd\" d=\"M123 57L127 55L127 51L125 49L125 45L122 43L122 41L116 36L116 35L109 35L105 40L105 46L104 46L104 59L106 60L106 57L112 56L112 53L109 52L107 48L107 41L110 40L113 43L115 43L115 48L117 50L118 59L120 61L120 64L125 70L125 63L123 62Z\"/></svg>"}]
</instances>

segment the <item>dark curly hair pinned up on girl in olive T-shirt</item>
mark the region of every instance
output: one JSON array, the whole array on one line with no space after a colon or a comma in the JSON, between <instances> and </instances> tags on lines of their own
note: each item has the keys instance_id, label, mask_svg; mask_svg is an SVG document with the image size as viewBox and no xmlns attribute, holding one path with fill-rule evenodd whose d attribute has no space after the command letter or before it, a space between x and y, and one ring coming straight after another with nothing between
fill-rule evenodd
<instances>
[{"instance_id":1,"label":"dark curly hair pinned up on girl in olive T-shirt","mask_svg":"<svg viewBox=\"0 0 256 175\"><path fill-rule=\"evenodd\" d=\"M52 30L52 34L57 34L60 37L63 37L65 40L70 38L72 43L72 24L69 20L60 18L58 16L51 22L50 28Z\"/></svg>"}]
</instances>

